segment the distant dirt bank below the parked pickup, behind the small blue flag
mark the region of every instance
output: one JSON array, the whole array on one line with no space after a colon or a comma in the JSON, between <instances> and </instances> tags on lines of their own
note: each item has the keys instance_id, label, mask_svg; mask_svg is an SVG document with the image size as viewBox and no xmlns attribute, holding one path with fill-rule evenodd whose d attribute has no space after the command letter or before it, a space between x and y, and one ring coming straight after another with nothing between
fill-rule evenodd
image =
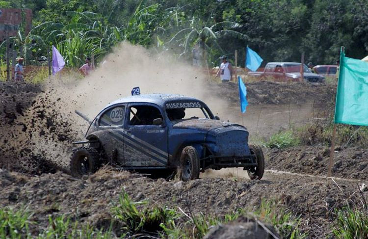
<instances>
[{"instance_id":1,"label":"distant dirt bank below the parked pickup, behind the small blue flag","mask_svg":"<svg viewBox=\"0 0 368 239\"><path fill-rule=\"evenodd\" d=\"M320 102L334 101L336 86L310 83L277 83L273 81L257 81L245 84L249 104L301 104L318 99ZM237 83L211 84L213 92L227 99L230 103L239 104Z\"/></svg>"}]
</instances>

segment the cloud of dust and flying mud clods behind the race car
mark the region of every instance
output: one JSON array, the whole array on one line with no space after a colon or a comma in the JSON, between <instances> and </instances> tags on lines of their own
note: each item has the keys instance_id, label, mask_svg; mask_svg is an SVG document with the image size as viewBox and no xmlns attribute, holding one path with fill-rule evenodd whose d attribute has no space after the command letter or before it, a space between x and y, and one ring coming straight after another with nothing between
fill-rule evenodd
<instances>
[{"instance_id":1,"label":"cloud of dust and flying mud clods behind the race car","mask_svg":"<svg viewBox=\"0 0 368 239\"><path fill-rule=\"evenodd\" d=\"M8 132L16 133L6 145L8 158L17 159L22 151L20 163L33 158L53 162L67 170L71 142L83 139L88 127L74 111L78 109L94 118L108 103L130 96L136 86L142 94L171 93L199 98L222 117L227 114L227 104L210 90L210 84L214 83L206 72L174 60L167 53L122 43L90 76L77 79L56 75L43 85L43 91ZM11 153L14 157L9 156Z\"/></svg>"}]
</instances>

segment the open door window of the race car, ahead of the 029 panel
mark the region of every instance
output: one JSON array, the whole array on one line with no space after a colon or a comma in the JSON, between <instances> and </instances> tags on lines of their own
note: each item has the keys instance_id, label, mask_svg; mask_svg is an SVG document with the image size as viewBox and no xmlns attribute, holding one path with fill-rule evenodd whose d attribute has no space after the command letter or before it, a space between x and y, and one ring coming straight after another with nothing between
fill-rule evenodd
<instances>
[{"instance_id":1,"label":"open door window of the race car, ahead of the 029 panel","mask_svg":"<svg viewBox=\"0 0 368 239\"><path fill-rule=\"evenodd\" d=\"M155 106L131 106L129 109L129 125L153 125L154 119L163 117Z\"/></svg>"}]
</instances>

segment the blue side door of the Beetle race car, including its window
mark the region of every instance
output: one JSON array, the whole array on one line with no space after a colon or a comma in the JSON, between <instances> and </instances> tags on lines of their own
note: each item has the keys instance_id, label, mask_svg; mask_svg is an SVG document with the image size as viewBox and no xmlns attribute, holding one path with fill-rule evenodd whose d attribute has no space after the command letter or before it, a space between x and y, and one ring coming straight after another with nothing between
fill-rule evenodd
<instances>
[{"instance_id":1,"label":"blue side door of the Beetle race car, including its window","mask_svg":"<svg viewBox=\"0 0 368 239\"><path fill-rule=\"evenodd\" d=\"M163 123L154 125L154 120L159 118ZM158 106L148 103L129 104L124 138L125 165L128 167L166 166L167 128L163 112Z\"/></svg>"}]
</instances>

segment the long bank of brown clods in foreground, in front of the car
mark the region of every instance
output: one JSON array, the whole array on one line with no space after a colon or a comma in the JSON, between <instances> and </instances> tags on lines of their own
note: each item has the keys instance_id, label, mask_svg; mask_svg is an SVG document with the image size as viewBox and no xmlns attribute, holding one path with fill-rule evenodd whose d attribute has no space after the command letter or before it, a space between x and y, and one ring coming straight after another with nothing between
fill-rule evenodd
<instances>
[{"instance_id":1,"label":"long bank of brown clods in foreground, in front of the car","mask_svg":"<svg viewBox=\"0 0 368 239\"><path fill-rule=\"evenodd\" d=\"M36 235L48 225L49 216L72 215L80 222L98 228L111 220L111 207L125 190L133 201L148 200L147 207L167 206L179 212L224 215L238 208L254 208L263 198L275 199L296 215L301 215L303 230L317 237L331 229L333 210L344 205L359 205L357 188L350 182L316 181L311 177L265 175L261 181L203 178L189 182L152 180L140 174L103 168L96 174L75 179L68 174L42 174L27 177L0 170L0 206L35 211L32 225ZM352 197L351 195L355 195ZM326 203L327 202L327 203ZM317 226L315 226L317 225Z\"/></svg>"}]
</instances>

